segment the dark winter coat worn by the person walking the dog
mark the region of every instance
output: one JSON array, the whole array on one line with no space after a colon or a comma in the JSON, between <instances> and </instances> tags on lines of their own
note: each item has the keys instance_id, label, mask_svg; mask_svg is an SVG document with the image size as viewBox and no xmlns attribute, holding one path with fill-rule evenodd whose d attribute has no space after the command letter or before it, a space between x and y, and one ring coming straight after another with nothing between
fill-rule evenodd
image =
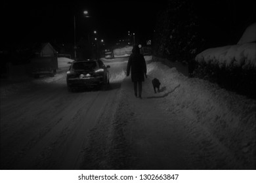
<instances>
[{"instance_id":1,"label":"dark winter coat worn by the person walking the dog","mask_svg":"<svg viewBox=\"0 0 256 183\"><path fill-rule=\"evenodd\" d=\"M130 69L132 82L144 81L144 75L146 75L146 61L142 54L138 52L131 54L127 63L127 76L130 75Z\"/></svg>"}]
</instances>

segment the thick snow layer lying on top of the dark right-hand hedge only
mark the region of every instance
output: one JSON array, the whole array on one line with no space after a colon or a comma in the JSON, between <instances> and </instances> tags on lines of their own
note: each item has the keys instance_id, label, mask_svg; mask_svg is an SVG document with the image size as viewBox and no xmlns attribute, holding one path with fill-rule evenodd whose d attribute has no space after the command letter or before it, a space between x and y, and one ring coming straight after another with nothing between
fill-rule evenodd
<instances>
[{"instance_id":1,"label":"thick snow layer lying on top of the dark right-hand hedge only","mask_svg":"<svg viewBox=\"0 0 256 183\"><path fill-rule=\"evenodd\" d=\"M256 43L235 44L209 48L196 56L199 63L211 63L219 67L243 67L256 69Z\"/></svg>"}]
</instances>

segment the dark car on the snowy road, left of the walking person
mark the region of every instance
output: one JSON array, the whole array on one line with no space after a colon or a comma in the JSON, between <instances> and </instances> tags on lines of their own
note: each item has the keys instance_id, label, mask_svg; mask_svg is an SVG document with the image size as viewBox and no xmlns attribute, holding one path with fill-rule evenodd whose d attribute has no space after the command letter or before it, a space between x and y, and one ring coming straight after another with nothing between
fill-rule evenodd
<instances>
[{"instance_id":1,"label":"dark car on the snowy road, left of the walking person","mask_svg":"<svg viewBox=\"0 0 256 183\"><path fill-rule=\"evenodd\" d=\"M108 68L110 66L105 66L100 59L74 61L67 72L68 90L92 87L102 87L106 90L110 85Z\"/></svg>"}]
</instances>

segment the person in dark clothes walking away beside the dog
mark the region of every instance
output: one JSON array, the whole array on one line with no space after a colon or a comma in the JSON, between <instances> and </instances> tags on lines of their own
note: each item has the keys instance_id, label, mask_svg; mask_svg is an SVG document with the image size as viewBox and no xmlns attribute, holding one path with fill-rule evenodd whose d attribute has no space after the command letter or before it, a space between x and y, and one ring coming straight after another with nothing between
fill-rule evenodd
<instances>
[{"instance_id":1,"label":"person in dark clothes walking away beside the dog","mask_svg":"<svg viewBox=\"0 0 256 183\"><path fill-rule=\"evenodd\" d=\"M138 97L137 86L139 86L139 98L142 99L142 82L144 82L144 76L146 76L146 61L144 56L140 54L139 46L133 46L132 54L129 57L127 63L127 72L126 75L130 75L131 70L131 81L133 82L133 88L135 92L135 97Z\"/></svg>"}]
</instances>

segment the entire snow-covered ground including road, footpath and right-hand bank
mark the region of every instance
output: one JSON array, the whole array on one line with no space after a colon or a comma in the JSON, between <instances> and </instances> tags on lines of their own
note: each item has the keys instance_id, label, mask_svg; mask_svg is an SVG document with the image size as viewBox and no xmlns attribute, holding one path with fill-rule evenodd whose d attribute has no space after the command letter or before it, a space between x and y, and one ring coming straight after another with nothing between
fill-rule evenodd
<instances>
[{"instance_id":1,"label":"entire snow-covered ground including road, footpath and right-hand bank","mask_svg":"<svg viewBox=\"0 0 256 183\"><path fill-rule=\"evenodd\" d=\"M142 99L127 58L108 91L69 93L62 67L1 96L1 169L255 169L256 102L150 59Z\"/></svg>"}]
</instances>

